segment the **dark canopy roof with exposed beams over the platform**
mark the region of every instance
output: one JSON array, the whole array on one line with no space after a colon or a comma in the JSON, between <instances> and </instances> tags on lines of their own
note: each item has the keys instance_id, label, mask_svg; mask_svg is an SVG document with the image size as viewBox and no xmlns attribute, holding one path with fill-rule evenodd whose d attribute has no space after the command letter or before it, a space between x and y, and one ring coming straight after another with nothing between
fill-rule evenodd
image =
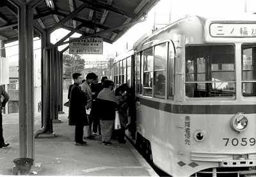
<instances>
[{"instance_id":1,"label":"dark canopy roof with exposed beams over the platform","mask_svg":"<svg viewBox=\"0 0 256 177\"><path fill-rule=\"evenodd\" d=\"M33 1L33 0L32 0ZM46 2L52 1L53 6ZM38 1L34 11L34 22L45 31L56 27L63 18L68 17L72 11L82 7L82 10L58 28L74 30L83 36L93 34L93 37L103 38L108 43L113 43L120 38L133 22L138 22L143 15L159 0L45 0ZM17 8L8 0L0 1L0 40L5 43L18 39ZM130 24L131 25L126 25ZM124 25L124 27L118 28ZM56 28L57 29L57 28ZM94 33L96 33L94 35ZM40 36L38 31L35 36Z\"/></svg>"}]
</instances>

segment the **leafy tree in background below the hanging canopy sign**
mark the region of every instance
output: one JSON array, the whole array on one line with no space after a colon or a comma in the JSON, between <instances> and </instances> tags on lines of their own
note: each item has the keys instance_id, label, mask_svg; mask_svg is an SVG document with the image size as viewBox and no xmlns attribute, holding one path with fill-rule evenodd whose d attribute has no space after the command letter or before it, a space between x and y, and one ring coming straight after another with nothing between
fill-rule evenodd
<instances>
[{"instance_id":1,"label":"leafy tree in background below the hanging canopy sign","mask_svg":"<svg viewBox=\"0 0 256 177\"><path fill-rule=\"evenodd\" d=\"M73 73L81 73L84 69L84 59L80 55L63 54L63 78L72 79Z\"/></svg>"}]
</instances>

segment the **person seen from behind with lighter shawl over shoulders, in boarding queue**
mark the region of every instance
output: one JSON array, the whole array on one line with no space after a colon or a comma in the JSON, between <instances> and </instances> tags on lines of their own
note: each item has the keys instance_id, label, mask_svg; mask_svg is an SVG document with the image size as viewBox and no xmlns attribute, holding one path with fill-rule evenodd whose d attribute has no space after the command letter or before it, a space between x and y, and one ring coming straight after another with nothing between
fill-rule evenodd
<instances>
[{"instance_id":1,"label":"person seen from behind with lighter shawl over shoulders, in boarding queue","mask_svg":"<svg viewBox=\"0 0 256 177\"><path fill-rule=\"evenodd\" d=\"M113 124L115 120L115 110L118 101L113 93L114 83L106 80L103 83L103 89L100 91L96 99L97 116L100 119L100 127L102 134L102 145L111 145L110 142Z\"/></svg>"}]
</instances>

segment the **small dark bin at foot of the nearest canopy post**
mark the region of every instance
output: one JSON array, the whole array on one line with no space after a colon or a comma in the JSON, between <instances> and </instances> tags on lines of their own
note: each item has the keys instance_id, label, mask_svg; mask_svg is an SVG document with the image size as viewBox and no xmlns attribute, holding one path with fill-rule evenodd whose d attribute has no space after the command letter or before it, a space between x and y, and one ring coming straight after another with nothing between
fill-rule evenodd
<instances>
[{"instance_id":1,"label":"small dark bin at foot of the nearest canopy post","mask_svg":"<svg viewBox=\"0 0 256 177\"><path fill-rule=\"evenodd\" d=\"M28 175L30 174L31 166L33 166L33 159L29 158L19 158L14 159L13 163L15 164L15 167L13 169L13 174L16 175Z\"/></svg>"}]
</instances>

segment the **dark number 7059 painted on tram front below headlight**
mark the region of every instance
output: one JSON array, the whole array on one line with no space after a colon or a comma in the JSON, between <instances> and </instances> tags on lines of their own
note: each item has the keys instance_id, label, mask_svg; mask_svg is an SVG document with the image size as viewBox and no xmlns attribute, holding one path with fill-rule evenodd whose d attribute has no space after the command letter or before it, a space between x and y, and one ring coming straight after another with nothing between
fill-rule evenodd
<instances>
[{"instance_id":1,"label":"dark number 7059 painted on tram front below headlight","mask_svg":"<svg viewBox=\"0 0 256 177\"><path fill-rule=\"evenodd\" d=\"M254 146L256 144L255 138L222 138L225 141L225 146Z\"/></svg>"}]
</instances>

